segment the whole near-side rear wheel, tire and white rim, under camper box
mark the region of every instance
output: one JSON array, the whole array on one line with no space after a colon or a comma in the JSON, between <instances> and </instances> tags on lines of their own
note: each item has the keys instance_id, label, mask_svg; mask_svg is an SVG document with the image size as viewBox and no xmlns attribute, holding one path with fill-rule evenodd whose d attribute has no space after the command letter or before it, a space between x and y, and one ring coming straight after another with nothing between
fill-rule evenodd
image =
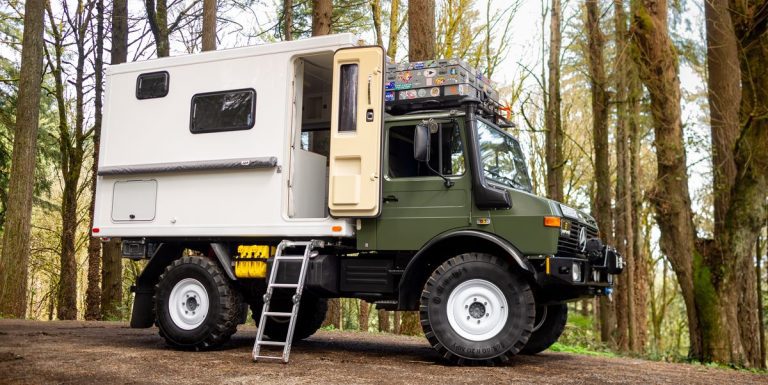
<instances>
[{"instance_id":1,"label":"whole near-side rear wheel, tire and white rim, under camper box","mask_svg":"<svg viewBox=\"0 0 768 385\"><path fill-rule=\"evenodd\" d=\"M221 268L203 256L173 261L155 286L156 324L174 347L209 349L237 330L242 297Z\"/></svg>"}]
</instances>

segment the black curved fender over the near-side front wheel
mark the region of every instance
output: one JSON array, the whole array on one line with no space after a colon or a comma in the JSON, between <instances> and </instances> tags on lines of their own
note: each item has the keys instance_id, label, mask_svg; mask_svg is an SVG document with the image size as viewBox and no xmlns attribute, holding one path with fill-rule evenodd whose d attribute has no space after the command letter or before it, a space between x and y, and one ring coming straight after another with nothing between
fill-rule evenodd
<instances>
[{"instance_id":1,"label":"black curved fender over the near-side front wheel","mask_svg":"<svg viewBox=\"0 0 768 385\"><path fill-rule=\"evenodd\" d=\"M523 278L529 282L536 281L536 269L507 240L479 230L448 231L432 238L408 262L398 287L398 308L418 309L421 288L432 271L451 257L467 252L489 253L506 258Z\"/></svg>"}]
</instances>

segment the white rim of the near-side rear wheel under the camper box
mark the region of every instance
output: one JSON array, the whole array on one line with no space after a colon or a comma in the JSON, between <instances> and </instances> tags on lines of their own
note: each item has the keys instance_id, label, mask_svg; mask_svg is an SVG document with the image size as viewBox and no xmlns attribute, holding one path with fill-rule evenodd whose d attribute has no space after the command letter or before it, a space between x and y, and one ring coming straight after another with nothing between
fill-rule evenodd
<instances>
[{"instance_id":1,"label":"white rim of the near-side rear wheel under the camper box","mask_svg":"<svg viewBox=\"0 0 768 385\"><path fill-rule=\"evenodd\" d=\"M203 324L208 315L208 292L200 281L185 278L177 282L168 299L168 312L173 323L183 330Z\"/></svg>"}]
</instances>

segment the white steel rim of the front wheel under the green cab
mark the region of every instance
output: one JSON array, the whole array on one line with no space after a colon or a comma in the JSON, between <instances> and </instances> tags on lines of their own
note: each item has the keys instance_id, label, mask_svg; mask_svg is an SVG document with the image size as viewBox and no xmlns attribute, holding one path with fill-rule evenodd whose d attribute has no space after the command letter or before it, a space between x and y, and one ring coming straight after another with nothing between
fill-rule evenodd
<instances>
[{"instance_id":1,"label":"white steel rim of the front wheel under the green cab","mask_svg":"<svg viewBox=\"0 0 768 385\"><path fill-rule=\"evenodd\" d=\"M462 282L448 297L448 322L470 341L495 337L509 317L507 298L498 286L484 279Z\"/></svg>"}]
</instances>

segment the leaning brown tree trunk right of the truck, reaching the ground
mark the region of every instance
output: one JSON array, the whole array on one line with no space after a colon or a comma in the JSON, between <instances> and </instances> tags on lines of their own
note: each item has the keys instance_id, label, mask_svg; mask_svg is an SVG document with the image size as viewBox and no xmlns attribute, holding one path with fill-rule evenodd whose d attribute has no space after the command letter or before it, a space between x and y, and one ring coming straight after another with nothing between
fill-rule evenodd
<instances>
[{"instance_id":1,"label":"leaning brown tree trunk right of the truck, reaching the ground","mask_svg":"<svg viewBox=\"0 0 768 385\"><path fill-rule=\"evenodd\" d=\"M669 37L667 11L666 1L632 1L632 36L637 51L634 57L651 96L655 133L657 176L649 199L661 230L661 250L677 275L685 301L689 355L709 361L712 356L702 354L704 340L711 343L707 347L709 352L721 352L722 348L715 343L723 334L711 271L704 265L694 244L695 229L680 118L677 53Z\"/></svg>"}]
</instances>

